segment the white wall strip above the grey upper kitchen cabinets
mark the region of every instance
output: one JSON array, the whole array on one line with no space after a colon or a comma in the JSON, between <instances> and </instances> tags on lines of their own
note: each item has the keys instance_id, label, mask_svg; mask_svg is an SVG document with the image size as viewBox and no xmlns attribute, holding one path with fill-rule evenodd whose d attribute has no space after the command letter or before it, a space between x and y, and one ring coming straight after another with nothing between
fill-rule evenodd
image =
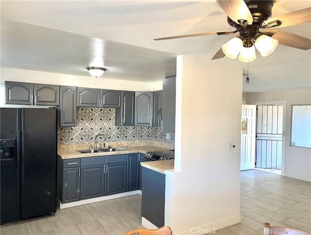
<instances>
[{"instance_id":1,"label":"white wall strip above the grey upper kitchen cabinets","mask_svg":"<svg viewBox=\"0 0 311 235\"><path fill-rule=\"evenodd\" d=\"M0 106L4 105L4 81L38 83L38 84L55 84L55 85L72 85L80 87L104 88L111 90L126 90L126 91L155 91L162 90L162 80L155 83L142 83L125 80L114 80L105 78L105 75L100 78L91 76L76 76L60 73L49 73L25 69L1 67L0 71ZM164 78L162 78L164 79ZM10 105L12 106L12 105Z\"/></svg>"}]
</instances>

